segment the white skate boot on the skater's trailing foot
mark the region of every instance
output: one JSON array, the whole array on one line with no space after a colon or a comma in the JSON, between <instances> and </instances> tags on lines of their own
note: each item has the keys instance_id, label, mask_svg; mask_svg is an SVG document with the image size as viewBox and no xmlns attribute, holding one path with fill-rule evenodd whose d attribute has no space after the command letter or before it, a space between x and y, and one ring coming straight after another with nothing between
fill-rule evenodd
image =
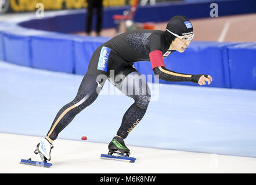
<instances>
[{"instance_id":1,"label":"white skate boot on the skater's trailing foot","mask_svg":"<svg viewBox=\"0 0 256 185\"><path fill-rule=\"evenodd\" d=\"M42 139L40 143L37 145L37 149L34 151L35 154L39 154L42 161L51 161L51 150L53 148L52 143L50 143L47 139Z\"/></svg>"}]
</instances>

